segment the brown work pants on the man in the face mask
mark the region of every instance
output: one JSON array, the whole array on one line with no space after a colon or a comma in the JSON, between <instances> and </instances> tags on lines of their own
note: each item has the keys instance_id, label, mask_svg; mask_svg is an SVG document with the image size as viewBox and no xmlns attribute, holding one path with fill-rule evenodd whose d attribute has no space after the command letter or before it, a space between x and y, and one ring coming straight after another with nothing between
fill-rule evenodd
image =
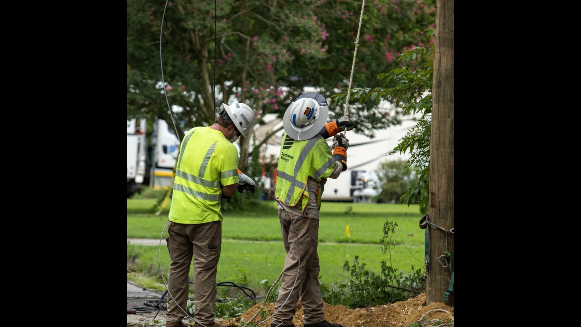
<instances>
[{"instance_id":1,"label":"brown work pants on the man in the face mask","mask_svg":"<svg viewBox=\"0 0 581 327\"><path fill-rule=\"evenodd\" d=\"M222 222L191 224L170 221L167 232L170 234L167 247L171 257L167 278L167 289L171 293L171 296L167 294L167 321L181 322L188 317L185 312L188 311L188 275L193 255L193 300L196 302L193 318L203 325L211 325L214 323Z\"/></svg>"}]
</instances>

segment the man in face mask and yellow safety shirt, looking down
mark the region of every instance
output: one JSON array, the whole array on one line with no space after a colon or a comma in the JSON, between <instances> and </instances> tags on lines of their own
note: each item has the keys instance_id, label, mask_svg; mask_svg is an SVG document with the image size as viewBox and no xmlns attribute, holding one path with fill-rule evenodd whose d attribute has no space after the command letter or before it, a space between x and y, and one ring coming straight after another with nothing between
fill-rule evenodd
<instances>
[{"instance_id":1,"label":"man in face mask and yellow safety shirt, looking down","mask_svg":"<svg viewBox=\"0 0 581 327\"><path fill-rule=\"evenodd\" d=\"M238 170L234 141L254 122L246 104L223 104L214 125L194 127L182 140L169 214L166 327L185 327L189 268L193 256L194 326L214 322L216 271L222 243L221 199L236 189L254 193L254 181Z\"/></svg>"}]
</instances>

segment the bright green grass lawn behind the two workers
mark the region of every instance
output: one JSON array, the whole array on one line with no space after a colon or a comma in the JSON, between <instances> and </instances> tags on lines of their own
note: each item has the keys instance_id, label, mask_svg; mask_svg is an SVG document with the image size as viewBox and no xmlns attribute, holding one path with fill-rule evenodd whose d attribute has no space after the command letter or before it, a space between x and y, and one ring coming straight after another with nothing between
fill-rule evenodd
<instances>
[{"instance_id":1,"label":"bright green grass lawn behind the two workers","mask_svg":"<svg viewBox=\"0 0 581 327\"><path fill-rule=\"evenodd\" d=\"M167 236L169 204L162 214L155 216L149 212L155 202L155 199L127 200L128 238L160 239L162 230L163 237ZM271 285L278 278L286 253L275 202L268 204L270 207L262 212L224 214L217 282L234 282L257 292L261 280L268 279ZM423 267L424 230L418 226L421 214L417 205L323 202L318 246L322 282L345 281L349 276L343 272L343 263L347 260L353 264L355 255L360 264L367 264L367 269L381 273L381 261L390 262L390 256L382 253L379 243L386 219L398 225L392 238L393 267L404 273L411 272L411 265ZM347 225L350 237L346 234ZM159 246L128 245L128 280L165 290L162 279L157 278L158 252L167 283L170 259L163 244L160 251ZM138 258L130 261L130 257Z\"/></svg>"}]
</instances>

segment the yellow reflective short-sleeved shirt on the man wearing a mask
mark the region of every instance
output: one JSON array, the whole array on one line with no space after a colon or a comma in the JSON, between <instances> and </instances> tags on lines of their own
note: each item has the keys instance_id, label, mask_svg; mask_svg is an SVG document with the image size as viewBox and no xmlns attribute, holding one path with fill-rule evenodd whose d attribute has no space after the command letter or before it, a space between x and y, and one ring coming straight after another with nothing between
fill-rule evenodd
<instances>
[{"instance_id":1,"label":"yellow reflective short-sleeved shirt on the man wearing a mask","mask_svg":"<svg viewBox=\"0 0 581 327\"><path fill-rule=\"evenodd\" d=\"M238 150L219 130L194 127L181 144L169 218L177 223L223 221L222 186L238 183ZM221 185L220 185L221 184Z\"/></svg>"}]
</instances>

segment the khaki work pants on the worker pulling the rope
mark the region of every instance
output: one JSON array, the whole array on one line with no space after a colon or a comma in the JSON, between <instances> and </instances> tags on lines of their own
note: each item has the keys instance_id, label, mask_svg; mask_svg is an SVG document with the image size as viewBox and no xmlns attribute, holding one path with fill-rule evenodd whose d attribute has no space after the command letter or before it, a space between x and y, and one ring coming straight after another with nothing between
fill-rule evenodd
<instances>
[{"instance_id":1,"label":"khaki work pants on the worker pulling the rope","mask_svg":"<svg viewBox=\"0 0 581 327\"><path fill-rule=\"evenodd\" d=\"M319 257L317 245L319 219L297 216L290 212L287 216L287 212L284 209L278 209L278 219L281 222L282 241L285 244L286 258L282 271L281 288L278 292L277 302L274 305L274 311L277 312L279 309L280 311L272 317L272 323L275 325L281 322L282 325L290 325L292 323L300 292L304 324L316 324L325 319L323 298L318 281ZM297 235L299 237L298 242ZM297 268L299 269L298 278ZM294 288L293 285L295 286Z\"/></svg>"}]
</instances>

